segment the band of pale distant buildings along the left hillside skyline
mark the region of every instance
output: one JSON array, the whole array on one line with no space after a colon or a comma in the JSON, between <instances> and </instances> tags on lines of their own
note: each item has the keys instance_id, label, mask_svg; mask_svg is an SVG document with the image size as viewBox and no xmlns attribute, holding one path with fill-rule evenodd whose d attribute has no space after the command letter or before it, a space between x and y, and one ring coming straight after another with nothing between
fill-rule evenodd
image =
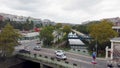
<instances>
[{"instance_id":1,"label":"band of pale distant buildings along the left hillside skyline","mask_svg":"<svg viewBox=\"0 0 120 68\"><path fill-rule=\"evenodd\" d=\"M40 24L41 26L55 25L55 22L49 19L41 20L33 17L24 17L24 16L17 16L12 14L5 14L5 13L0 13L0 21L1 20L16 21L17 23L19 22L26 23L26 21L29 21L29 22L33 22L34 26L36 24Z\"/></svg>"}]
</instances>

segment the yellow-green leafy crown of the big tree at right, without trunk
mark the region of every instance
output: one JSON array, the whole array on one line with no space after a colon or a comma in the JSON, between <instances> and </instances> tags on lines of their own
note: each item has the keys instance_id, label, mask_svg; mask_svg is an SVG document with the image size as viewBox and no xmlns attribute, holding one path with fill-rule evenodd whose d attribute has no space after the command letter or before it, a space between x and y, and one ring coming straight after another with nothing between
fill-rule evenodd
<instances>
[{"instance_id":1,"label":"yellow-green leafy crown of the big tree at right, without trunk","mask_svg":"<svg viewBox=\"0 0 120 68\"><path fill-rule=\"evenodd\" d=\"M99 43L106 42L117 36L117 32L112 29L112 23L108 22L107 20L101 21L98 24L92 24L89 26L90 35Z\"/></svg>"}]
</instances>

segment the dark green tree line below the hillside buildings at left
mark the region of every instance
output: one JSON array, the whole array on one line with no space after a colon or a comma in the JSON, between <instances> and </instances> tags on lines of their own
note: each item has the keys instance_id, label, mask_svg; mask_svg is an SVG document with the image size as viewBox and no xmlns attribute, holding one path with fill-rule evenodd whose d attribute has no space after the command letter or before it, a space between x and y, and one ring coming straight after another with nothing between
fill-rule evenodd
<instances>
[{"instance_id":1,"label":"dark green tree line below the hillside buildings at left","mask_svg":"<svg viewBox=\"0 0 120 68\"><path fill-rule=\"evenodd\" d=\"M33 21L9 21L9 20L5 20L5 21L0 21L0 29L4 28L4 26L7 23L10 23L15 29L19 29L19 30L32 30L33 28L39 28L42 27L42 23L35 23Z\"/></svg>"}]
</instances>

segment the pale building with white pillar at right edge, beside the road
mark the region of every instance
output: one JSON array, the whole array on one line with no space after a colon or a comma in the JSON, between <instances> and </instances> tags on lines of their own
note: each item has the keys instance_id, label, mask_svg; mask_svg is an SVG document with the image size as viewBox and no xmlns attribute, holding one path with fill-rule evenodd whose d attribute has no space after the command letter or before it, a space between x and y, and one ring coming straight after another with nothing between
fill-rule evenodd
<instances>
[{"instance_id":1,"label":"pale building with white pillar at right edge, beside the road","mask_svg":"<svg viewBox=\"0 0 120 68\"><path fill-rule=\"evenodd\" d=\"M110 41L111 48L106 47L106 58L120 61L120 37L113 38Z\"/></svg>"}]
</instances>

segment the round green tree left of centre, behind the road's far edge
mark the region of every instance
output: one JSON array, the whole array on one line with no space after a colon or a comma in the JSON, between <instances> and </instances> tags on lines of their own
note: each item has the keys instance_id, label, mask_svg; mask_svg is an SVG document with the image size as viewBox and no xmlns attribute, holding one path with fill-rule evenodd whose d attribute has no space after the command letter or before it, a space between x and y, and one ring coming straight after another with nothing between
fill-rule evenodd
<instances>
[{"instance_id":1,"label":"round green tree left of centre, behind the road's far edge","mask_svg":"<svg viewBox=\"0 0 120 68\"><path fill-rule=\"evenodd\" d=\"M51 42L54 39L54 36L52 35L52 33L53 33L53 27L52 26L44 27L40 31L40 38L43 40L44 45L50 45L51 44Z\"/></svg>"}]
</instances>

